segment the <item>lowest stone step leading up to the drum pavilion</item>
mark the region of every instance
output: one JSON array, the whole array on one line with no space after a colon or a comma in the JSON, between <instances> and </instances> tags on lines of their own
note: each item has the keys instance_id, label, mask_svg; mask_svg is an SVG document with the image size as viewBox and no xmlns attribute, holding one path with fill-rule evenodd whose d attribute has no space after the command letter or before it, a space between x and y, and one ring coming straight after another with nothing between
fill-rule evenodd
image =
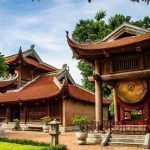
<instances>
[{"instance_id":1,"label":"lowest stone step leading up to the drum pavilion","mask_svg":"<svg viewBox=\"0 0 150 150\"><path fill-rule=\"evenodd\" d=\"M143 147L143 143L129 143L129 142L108 142L109 146L137 146L137 147Z\"/></svg>"}]
</instances>

